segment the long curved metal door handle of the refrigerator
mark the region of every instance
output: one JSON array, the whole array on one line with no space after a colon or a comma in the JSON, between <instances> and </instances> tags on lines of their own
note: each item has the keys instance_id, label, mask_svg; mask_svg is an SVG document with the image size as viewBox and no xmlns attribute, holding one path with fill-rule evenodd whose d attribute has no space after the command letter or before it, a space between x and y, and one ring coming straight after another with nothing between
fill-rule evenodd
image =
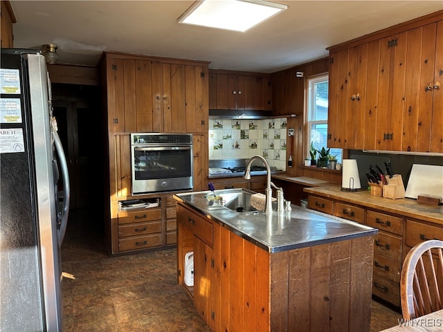
<instances>
[{"instance_id":1,"label":"long curved metal door handle of the refrigerator","mask_svg":"<svg viewBox=\"0 0 443 332\"><path fill-rule=\"evenodd\" d=\"M66 163L66 157L64 156L62 141L58 136L58 133L53 129L54 145L55 150L60 161L60 169L62 171L63 179L63 209L60 216L60 229L58 232L58 246L62 247L64 233L66 232L66 226L68 225L68 214L69 214L69 201L71 196L71 190L69 187L69 174L68 174L68 164Z\"/></svg>"}]
</instances>

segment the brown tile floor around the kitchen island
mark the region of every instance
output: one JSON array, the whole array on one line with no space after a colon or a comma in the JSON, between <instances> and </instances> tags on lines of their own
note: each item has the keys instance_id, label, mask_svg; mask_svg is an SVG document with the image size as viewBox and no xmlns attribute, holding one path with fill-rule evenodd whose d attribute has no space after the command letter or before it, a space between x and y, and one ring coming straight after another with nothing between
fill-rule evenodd
<instances>
[{"instance_id":1,"label":"brown tile floor around the kitchen island","mask_svg":"<svg viewBox=\"0 0 443 332\"><path fill-rule=\"evenodd\" d=\"M62 246L65 332L210 331L177 285L175 249L109 257L88 210L71 211ZM372 301L371 332L401 315Z\"/></svg>"}]
</instances>

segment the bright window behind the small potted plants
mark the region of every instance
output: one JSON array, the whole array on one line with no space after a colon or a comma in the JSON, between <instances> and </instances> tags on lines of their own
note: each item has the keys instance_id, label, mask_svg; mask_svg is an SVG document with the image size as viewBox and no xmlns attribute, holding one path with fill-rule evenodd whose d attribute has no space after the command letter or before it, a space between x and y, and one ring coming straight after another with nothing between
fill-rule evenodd
<instances>
[{"instance_id":1,"label":"bright window behind the small potted plants","mask_svg":"<svg viewBox=\"0 0 443 332\"><path fill-rule=\"evenodd\" d=\"M327 91L329 86L328 75L321 75L307 80L307 156L311 142L317 150L327 149ZM341 163L342 149L331 149L329 154L336 155ZM318 154L317 154L318 158Z\"/></svg>"}]
</instances>

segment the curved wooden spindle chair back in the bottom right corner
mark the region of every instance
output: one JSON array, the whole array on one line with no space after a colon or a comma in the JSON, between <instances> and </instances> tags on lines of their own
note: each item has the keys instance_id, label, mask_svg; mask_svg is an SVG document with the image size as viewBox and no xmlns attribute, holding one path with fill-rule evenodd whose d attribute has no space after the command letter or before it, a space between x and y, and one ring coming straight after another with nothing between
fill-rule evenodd
<instances>
[{"instance_id":1,"label":"curved wooden spindle chair back in the bottom right corner","mask_svg":"<svg viewBox=\"0 0 443 332\"><path fill-rule=\"evenodd\" d=\"M401 311L405 320L443 308L443 241L418 243L401 269Z\"/></svg>"}]
</instances>

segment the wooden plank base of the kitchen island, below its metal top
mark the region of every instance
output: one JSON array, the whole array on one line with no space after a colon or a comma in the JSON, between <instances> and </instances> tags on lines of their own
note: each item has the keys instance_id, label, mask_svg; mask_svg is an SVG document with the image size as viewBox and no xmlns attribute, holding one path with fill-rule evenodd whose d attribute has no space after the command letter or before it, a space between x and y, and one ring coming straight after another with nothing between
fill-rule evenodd
<instances>
[{"instance_id":1,"label":"wooden plank base of the kitchen island, below its metal top","mask_svg":"<svg viewBox=\"0 0 443 332\"><path fill-rule=\"evenodd\" d=\"M213 331L370 330L372 237L269 253L181 203L177 227L178 283Z\"/></svg>"}]
</instances>

